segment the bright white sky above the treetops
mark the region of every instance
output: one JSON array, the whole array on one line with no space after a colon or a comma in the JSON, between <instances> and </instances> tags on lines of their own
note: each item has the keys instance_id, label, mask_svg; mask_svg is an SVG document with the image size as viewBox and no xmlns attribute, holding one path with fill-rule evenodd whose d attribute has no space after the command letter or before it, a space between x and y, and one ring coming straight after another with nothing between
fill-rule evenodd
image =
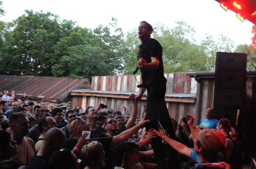
<instances>
[{"instance_id":1,"label":"bright white sky above the treetops","mask_svg":"<svg viewBox=\"0 0 256 169\"><path fill-rule=\"evenodd\" d=\"M137 28L140 21L151 25L162 23L168 28L175 21L183 20L195 28L198 41L209 34L218 39L219 35L230 37L236 44L252 43L253 23L241 22L233 11L224 11L215 0L0 0L6 12L0 20L11 22L25 10L49 11L61 20L72 20L77 25L94 29L108 25L111 18L118 21L123 32Z\"/></svg>"}]
</instances>

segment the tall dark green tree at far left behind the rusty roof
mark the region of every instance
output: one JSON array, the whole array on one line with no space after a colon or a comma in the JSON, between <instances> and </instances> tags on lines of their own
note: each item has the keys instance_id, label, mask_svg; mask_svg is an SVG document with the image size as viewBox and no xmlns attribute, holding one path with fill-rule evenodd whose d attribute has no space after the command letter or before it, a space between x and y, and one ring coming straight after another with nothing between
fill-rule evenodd
<instances>
[{"instance_id":1,"label":"tall dark green tree at far left behind the rusty roof","mask_svg":"<svg viewBox=\"0 0 256 169\"><path fill-rule=\"evenodd\" d=\"M52 76L55 45L61 38L70 34L75 23L60 23L57 15L42 11L26 10L26 14L14 21L13 42L1 59L3 74Z\"/></svg>"}]
</instances>

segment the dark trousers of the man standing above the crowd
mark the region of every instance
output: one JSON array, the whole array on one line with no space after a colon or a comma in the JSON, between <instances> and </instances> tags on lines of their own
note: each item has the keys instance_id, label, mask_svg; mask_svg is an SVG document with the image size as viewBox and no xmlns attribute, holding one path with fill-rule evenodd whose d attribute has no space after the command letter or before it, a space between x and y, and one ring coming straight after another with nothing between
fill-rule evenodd
<instances>
[{"instance_id":1,"label":"dark trousers of the man standing above the crowd","mask_svg":"<svg viewBox=\"0 0 256 169\"><path fill-rule=\"evenodd\" d=\"M166 81L147 87L147 92L148 96L146 106L146 119L149 119L150 122L145 125L146 130L148 131L151 128L158 130L159 121L163 129L170 134L169 138L176 140L175 132L172 127L172 120L164 99L166 93ZM172 147L169 148L171 153L166 152L166 148L163 146L161 138L153 138L151 140L151 146L154 150L157 160L165 158L166 155L171 155L169 156L171 161L174 163L177 162L177 152L172 149Z\"/></svg>"}]
</instances>

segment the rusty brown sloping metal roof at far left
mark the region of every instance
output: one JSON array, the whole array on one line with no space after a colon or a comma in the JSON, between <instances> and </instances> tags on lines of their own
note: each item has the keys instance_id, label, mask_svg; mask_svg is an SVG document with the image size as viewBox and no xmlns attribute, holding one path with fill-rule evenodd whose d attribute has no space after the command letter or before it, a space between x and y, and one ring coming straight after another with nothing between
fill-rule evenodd
<instances>
[{"instance_id":1,"label":"rusty brown sloping metal roof at far left","mask_svg":"<svg viewBox=\"0 0 256 169\"><path fill-rule=\"evenodd\" d=\"M0 91L15 90L16 95L26 92L29 97L61 101L76 88L90 88L89 79L0 75Z\"/></svg>"}]
</instances>

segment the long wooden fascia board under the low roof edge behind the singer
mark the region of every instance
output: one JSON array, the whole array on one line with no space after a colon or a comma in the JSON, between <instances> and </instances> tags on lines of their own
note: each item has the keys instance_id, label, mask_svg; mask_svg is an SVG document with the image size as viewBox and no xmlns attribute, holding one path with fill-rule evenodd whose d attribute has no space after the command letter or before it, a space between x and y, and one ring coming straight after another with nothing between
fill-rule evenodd
<instances>
[{"instance_id":1,"label":"long wooden fascia board under the low roof edge behind the singer","mask_svg":"<svg viewBox=\"0 0 256 169\"><path fill-rule=\"evenodd\" d=\"M71 96L96 96L96 97L111 97L111 98L120 98L128 99L128 95L125 94L106 94L106 93L75 93L71 92ZM146 97L143 96L142 100L146 100ZM195 98L179 98L179 97L165 97L166 101L175 101L175 102L184 102L184 103L195 103Z\"/></svg>"}]
</instances>

